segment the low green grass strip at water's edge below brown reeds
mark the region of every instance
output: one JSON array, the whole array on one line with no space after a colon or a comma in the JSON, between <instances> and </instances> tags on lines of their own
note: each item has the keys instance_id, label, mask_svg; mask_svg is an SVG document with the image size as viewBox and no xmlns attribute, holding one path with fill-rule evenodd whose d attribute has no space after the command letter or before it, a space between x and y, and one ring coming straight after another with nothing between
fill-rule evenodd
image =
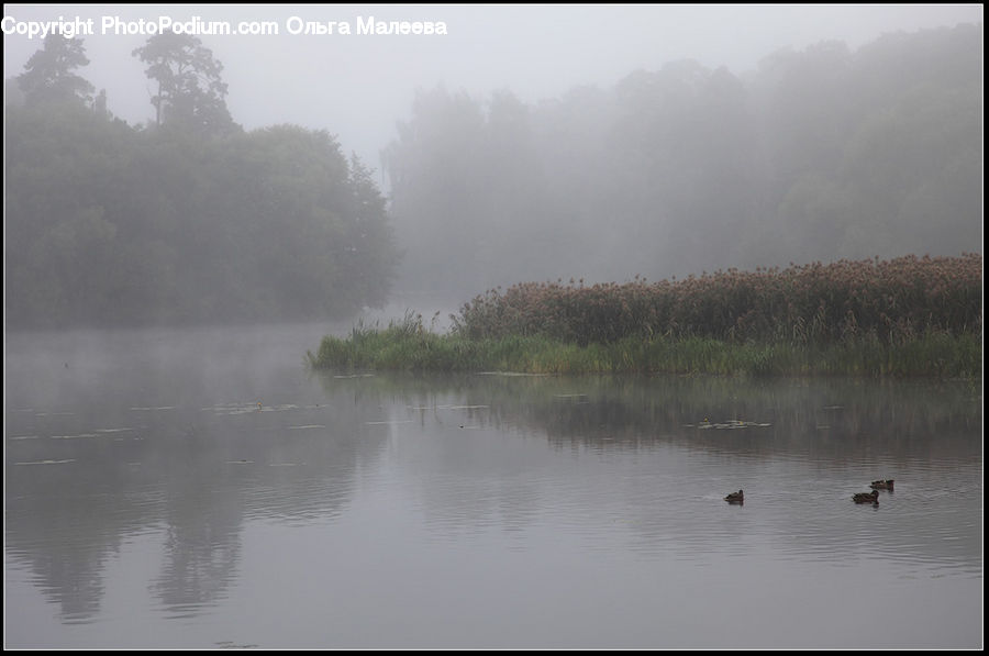
<instances>
[{"instance_id":1,"label":"low green grass strip at water's edge below brown reeds","mask_svg":"<svg viewBox=\"0 0 989 656\"><path fill-rule=\"evenodd\" d=\"M423 330L407 318L386 329L355 327L323 337L309 354L315 368L335 370L523 371L530 374L675 373L753 376L981 376L981 340L926 333L897 344L860 337L825 346L731 344L712 337L625 337L581 346L544 335L469 338Z\"/></svg>"}]
</instances>

